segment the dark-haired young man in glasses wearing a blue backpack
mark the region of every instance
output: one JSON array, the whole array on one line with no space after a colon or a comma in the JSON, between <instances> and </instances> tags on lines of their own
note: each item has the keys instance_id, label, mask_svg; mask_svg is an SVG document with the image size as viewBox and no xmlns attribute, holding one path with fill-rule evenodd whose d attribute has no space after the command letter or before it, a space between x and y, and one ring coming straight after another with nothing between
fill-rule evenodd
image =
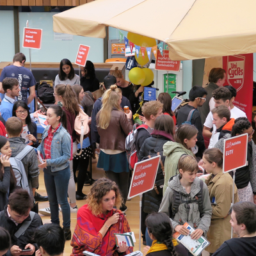
<instances>
[{"instance_id":1,"label":"dark-haired young man in glasses wearing a blue backpack","mask_svg":"<svg viewBox=\"0 0 256 256\"><path fill-rule=\"evenodd\" d=\"M198 157L203 156L205 150L204 137L203 137L203 125L198 107L203 106L207 96L206 90L202 86L193 86L189 92L189 102L184 107L180 108L177 113L177 125L178 127L184 122L190 122L198 129L195 154ZM191 114L191 116L189 116ZM189 118L188 118L189 117ZM188 120L189 119L189 120ZM197 152L196 152L197 151Z\"/></svg>"}]
</instances>

